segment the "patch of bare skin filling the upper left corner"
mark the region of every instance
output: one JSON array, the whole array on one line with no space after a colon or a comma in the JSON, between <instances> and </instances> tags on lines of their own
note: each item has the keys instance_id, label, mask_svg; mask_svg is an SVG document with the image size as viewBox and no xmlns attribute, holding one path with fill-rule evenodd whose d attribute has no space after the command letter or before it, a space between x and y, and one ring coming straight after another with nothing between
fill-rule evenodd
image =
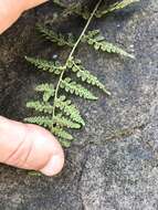
<instances>
[{"instance_id":1,"label":"patch of bare skin filling the upper left corner","mask_svg":"<svg viewBox=\"0 0 158 210\"><path fill-rule=\"evenodd\" d=\"M21 13L48 0L0 0L0 34L6 31Z\"/></svg>"}]
</instances>

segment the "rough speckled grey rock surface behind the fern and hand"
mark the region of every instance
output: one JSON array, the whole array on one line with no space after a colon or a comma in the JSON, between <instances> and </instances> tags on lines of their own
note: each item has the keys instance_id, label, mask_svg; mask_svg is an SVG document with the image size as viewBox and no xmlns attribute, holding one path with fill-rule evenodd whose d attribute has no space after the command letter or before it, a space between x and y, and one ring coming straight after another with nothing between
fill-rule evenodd
<instances>
[{"instance_id":1,"label":"rough speckled grey rock surface behind the fern and hand","mask_svg":"<svg viewBox=\"0 0 158 210\"><path fill-rule=\"evenodd\" d=\"M0 112L14 119L29 114L33 87L50 75L23 60L25 54L65 57L35 33L36 22L56 10L51 3L30 11L0 38ZM74 18L64 30L81 29ZM87 126L76 134L66 165L55 178L30 177L0 167L2 210L157 210L158 209L158 1L94 21L107 40L136 55L136 61L94 52L81 45L77 56L110 90L97 103L80 102Z\"/></svg>"}]
</instances>

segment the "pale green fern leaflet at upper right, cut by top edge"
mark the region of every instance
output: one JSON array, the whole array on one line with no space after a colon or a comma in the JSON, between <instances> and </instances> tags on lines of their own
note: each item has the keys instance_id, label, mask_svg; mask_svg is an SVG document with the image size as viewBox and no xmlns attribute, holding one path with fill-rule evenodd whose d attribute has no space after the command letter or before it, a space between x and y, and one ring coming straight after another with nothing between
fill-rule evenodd
<instances>
[{"instance_id":1,"label":"pale green fern leaflet at upper right, cut by top edge","mask_svg":"<svg viewBox=\"0 0 158 210\"><path fill-rule=\"evenodd\" d=\"M98 9L95 17L96 18L102 18L103 15L106 15L109 12L122 10L122 9L133 4L133 3L136 3L136 2L139 2L139 0L123 0L120 2L116 2L116 3L112 4L109 8L106 8L106 9L101 8L101 9Z\"/></svg>"}]
</instances>

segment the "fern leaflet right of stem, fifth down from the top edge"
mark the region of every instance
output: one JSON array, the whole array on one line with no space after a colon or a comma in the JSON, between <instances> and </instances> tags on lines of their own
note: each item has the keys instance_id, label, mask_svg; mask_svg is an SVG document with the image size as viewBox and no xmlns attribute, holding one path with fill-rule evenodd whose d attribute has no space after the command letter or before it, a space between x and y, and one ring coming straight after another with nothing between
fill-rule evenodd
<instances>
[{"instance_id":1,"label":"fern leaflet right of stem, fifth down from the top edge","mask_svg":"<svg viewBox=\"0 0 158 210\"><path fill-rule=\"evenodd\" d=\"M60 96L56 99L56 107L60 108L66 116L69 116L73 122L76 122L83 126L85 126L85 122L83 120L80 111L76 108L74 104L70 99L66 101L65 96Z\"/></svg>"}]
</instances>

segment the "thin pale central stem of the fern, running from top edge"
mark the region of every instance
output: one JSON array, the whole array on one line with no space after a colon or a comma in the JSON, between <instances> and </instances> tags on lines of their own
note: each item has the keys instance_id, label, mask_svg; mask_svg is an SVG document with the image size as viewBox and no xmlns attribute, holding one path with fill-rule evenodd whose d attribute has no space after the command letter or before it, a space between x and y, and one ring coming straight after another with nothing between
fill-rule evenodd
<instances>
[{"instance_id":1,"label":"thin pale central stem of the fern, running from top edge","mask_svg":"<svg viewBox=\"0 0 158 210\"><path fill-rule=\"evenodd\" d=\"M92 14L91 14L91 17L89 17L89 19L88 19L86 25L84 27L84 29L83 29L81 35L78 36L76 43L74 44L74 46L73 46L73 49L72 49L72 51L71 51L71 53L70 53L70 55L69 55L69 57L67 57L67 60L66 60L66 63L65 63L65 65L64 65L65 67L63 69L62 73L61 73L61 75L60 75L59 83L57 83L56 90L55 90L55 95L54 95L54 106L53 106L53 115L52 115L52 118L54 118L54 116L55 116L55 108L56 108L55 103L56 103L56 99L57 99L60 85L61 85L62 78L63 78L63 76L64 76L64 73L65 73L67 63L69 63L69 61L72 59L72 56L73 56L75 50L77 49L80 42L82 41L82 39L83 39L83 36L84 36L84 34L85 34L85 32L86 32L88 25L91 24L91 22L92 22L92 20L93 20L93 18L94 18L94 15L95 15L95 13L96 13L96 11L97 11L97 9L98 9L98 7L99 7L101 3L102 3L102 0L99 0L99 1L97 2L97 4L95 6L95 8L94 8L94 10L93 10L93 12L92 12ZM53 126L52 126L52 128L53 128Z\"/></svg>"}]
</instances>

